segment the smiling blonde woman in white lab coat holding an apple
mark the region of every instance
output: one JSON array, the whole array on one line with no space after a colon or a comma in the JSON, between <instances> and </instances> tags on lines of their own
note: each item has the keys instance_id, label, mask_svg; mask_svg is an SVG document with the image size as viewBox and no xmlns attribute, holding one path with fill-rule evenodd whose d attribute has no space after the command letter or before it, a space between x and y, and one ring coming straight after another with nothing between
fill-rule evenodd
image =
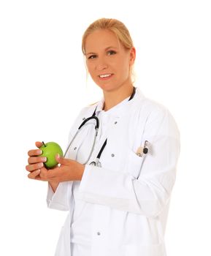
<instances>
[{"instance_id":1,"label":"smiling blonde woman in white lab coat holding an apple","mask_svg":"<svg viewBox=\"0 0 211 256\"><path fill-rule=\"evenodd\" d=\"M26 166L28 178L48 181L48 206L69 211L55 255L164 256L180 151L177 124L169 110L134 87L136 50L123 23L96 20L82 49L104 97L81 110L66 157L57 156L59 167L45 169L39 149L28 151ZM93 118L74 138L90 116L99 118L95 146Z\"/></svg>"}]
</instances>

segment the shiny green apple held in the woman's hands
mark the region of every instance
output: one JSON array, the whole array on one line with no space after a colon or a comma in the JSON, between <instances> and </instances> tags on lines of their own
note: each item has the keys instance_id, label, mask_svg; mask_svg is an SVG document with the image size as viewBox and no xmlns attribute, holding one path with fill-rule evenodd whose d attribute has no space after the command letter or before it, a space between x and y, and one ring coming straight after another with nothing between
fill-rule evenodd
<instances>
[{"instance_id":1,"label":"shiny green apple held in the woman's hands","mask_svg":"<svg viewBox=\"0 0 211 256\"><path fill-rule=\"evenodd\" d=\"M55 167L55 165L58 164L58 162L55 159L56 154L59 154L60 157L63 157L63 151L61 149L61 146L59 146L55 142L44 143L42 141L42 144L43 145L39 148L42 150L42 154L39 157L47 158L47 161L44 163L47 169Z\"/></svg>"}]
</instances>

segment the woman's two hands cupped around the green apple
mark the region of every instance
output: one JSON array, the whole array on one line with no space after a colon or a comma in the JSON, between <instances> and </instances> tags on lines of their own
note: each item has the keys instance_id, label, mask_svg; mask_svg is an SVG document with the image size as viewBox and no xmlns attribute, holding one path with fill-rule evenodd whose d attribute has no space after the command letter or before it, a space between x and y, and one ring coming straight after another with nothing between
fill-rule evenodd
<instances>
[{"instance_id":1,"label":"woman's two hands cupped around the green apple","mask_svg":"<svg viewBox=\"0 0 211 256\"><path fill-rule=\"evenodd\" d=\"M42 146L42 143L37 142L37 147ZM47 170L43 165L46 161L43 157L37 157L42 154L39 149L28 151L28 164L26 170L30 173L28 178L34 178L40 181L62 182L62 181L80 181L83 176L85 165L80 164L72 159L65 159L56 156L60 166Z\"/></svg>"}]
</instances>

